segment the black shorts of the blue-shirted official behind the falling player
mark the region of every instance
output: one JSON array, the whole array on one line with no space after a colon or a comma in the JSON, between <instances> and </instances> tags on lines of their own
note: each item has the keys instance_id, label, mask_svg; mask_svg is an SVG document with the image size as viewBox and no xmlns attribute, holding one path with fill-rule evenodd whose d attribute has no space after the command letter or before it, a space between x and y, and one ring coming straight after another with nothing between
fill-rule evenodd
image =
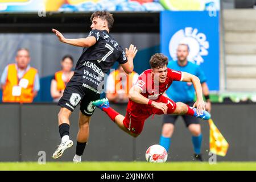
<instances>
[{"instance_id":1,"label":"black shorts of the blue-shirted official behind the falling player","mask_svg":"<svg viewBox=\"0 0 256 182\"><path fill-rule=\"evenodd\" d=\"M186 103L189 106L193 106L193 102L188 102ZM183 120L185 122L185 125L188 127L191 124L200 124L200 120L199 118L195 118L191 115L180 115L181 117L183 117ZM172 123L175 125L175 122L177 120L177 118L179 117L179 115L172 115L172 114L164 114L163 117L163 124L165 123Z\"/></svg>"}]
</instances>

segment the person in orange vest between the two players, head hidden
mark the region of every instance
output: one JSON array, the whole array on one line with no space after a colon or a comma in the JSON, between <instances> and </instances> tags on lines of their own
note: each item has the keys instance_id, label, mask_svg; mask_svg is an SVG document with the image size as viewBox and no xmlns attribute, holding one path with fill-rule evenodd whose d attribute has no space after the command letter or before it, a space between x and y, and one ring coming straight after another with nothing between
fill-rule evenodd
<instances>
[{"instance_id":1,"label":"person in orange vest between the two players, head hidden","mask_svg":"<svg viewBox=\"0 0 256 182\"><path fill-rule=\"evenodd\" d=\"M127 75L119 65L118 69L111 72L106 82L106 97L110 102L127 103L129 89L138 80L138 73Z\"/></svg>"}]
</instances>

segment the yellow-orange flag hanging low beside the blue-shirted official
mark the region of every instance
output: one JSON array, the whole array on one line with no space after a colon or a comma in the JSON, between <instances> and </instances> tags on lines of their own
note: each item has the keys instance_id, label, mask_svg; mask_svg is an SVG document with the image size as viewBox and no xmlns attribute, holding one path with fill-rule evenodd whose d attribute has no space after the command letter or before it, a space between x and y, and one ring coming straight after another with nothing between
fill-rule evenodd
<instances>
[{"instance_id":1,"label":"yellow-orange flag hanging low beside the blue-shirted official","mask_svg":"<svg viewBox=\"0 0 256 182\"><path fill-rule=\"evenodd\" d=\"M214 125L212 119L209 119L210 125L210 152L216 155L225 156L229 144L220 133L220 130Z\"/></svg>"}]
</instances>

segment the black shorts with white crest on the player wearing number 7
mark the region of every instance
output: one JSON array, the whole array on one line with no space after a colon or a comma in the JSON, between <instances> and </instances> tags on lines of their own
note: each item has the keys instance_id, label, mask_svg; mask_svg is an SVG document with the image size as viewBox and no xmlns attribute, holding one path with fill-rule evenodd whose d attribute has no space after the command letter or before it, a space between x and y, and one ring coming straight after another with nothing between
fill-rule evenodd
<instances>
[{"instance_id":1,"label":"black shorts with white crest on the player wearing number 7","mask_svg":"<svg viewBox=\"0 0 256 182\"><path fill-rule=\"evenodd\" d=\"M95 110L92 101L98 99L100 99L99 93L96 93L89 88L85 88L79 82L69 81L58 105L73 111L80 103L80 111L82 114L90 117Z\"/></svg>"}]
</instances>

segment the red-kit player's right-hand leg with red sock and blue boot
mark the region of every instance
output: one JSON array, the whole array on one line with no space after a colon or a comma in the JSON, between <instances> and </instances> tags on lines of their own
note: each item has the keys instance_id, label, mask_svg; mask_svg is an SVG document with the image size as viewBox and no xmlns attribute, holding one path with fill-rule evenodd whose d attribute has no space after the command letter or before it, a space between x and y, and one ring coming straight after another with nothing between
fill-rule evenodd
<instances>
[{"instance_id":1,"label":"red-kit player's right-hand leg with red sock and blue boot","mask_svg":"<svg viewBox=\"0 0 256 182\"><path fill-rule=\"evenodd\" d=\"M179 115L187 114L187 115L192 115L193 117L201 118L205 120L210 119L210 114L206 110L203 110L202 114L197 114L196 108L192 109L192 107L189 107L187 104L184 104L183 102L176 102L176 109L172 114L179 114Z\"/></svg>"}]
</instances>

